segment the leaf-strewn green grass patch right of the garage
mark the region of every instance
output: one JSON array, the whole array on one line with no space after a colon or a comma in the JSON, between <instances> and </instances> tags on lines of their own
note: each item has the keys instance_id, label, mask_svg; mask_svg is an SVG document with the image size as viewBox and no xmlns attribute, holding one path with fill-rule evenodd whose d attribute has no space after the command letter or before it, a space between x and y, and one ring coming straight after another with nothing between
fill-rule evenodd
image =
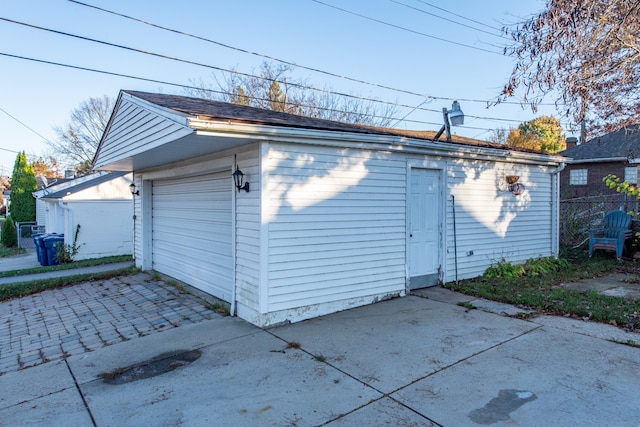
<instances>
[{"instance_id":1,"label":"leaf-strewn green grass patch right of the garage","mask_svg":"<svg viewBox=\"0 0 640 427\"><path fill-rule=\"evenodd\" d=\"M565 289L561 283L597 277L614 271L634 274L640 266L633 261L619 262L606 255L592 259L581 252L563 254L569 261L560 270L518 277L487 277L448 283L447 288L539 312L615 324L640 329L640 300L601 295L596 291L579 292Z\"/></svg>"}]
</instances>

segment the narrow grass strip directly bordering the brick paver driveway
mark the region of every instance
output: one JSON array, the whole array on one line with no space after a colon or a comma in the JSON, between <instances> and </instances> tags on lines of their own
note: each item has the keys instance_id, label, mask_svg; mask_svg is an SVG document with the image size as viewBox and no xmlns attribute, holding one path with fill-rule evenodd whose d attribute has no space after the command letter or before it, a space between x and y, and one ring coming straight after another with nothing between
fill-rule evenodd
<instances>
[{"instance_id":1,"label":"narrow grass strip directly bordering the brick paver driveway","mask_svg":"<svg viewBox=\"0 0 640 427\"><path fill-rule=\"evenodd\" d=\"M137 274L138 269L135 267L126 267L119 270L105 271L101 273L76 274L67 277L57 277L52 279L31 280L28 282L11 283L0 285L0 301L11 298L22 297L45 291L47 289L62 288L65 286L75 285L80 282L88 282L94 280L106 280L118 276L130 276Z\"/></svg>"}]
</instances>

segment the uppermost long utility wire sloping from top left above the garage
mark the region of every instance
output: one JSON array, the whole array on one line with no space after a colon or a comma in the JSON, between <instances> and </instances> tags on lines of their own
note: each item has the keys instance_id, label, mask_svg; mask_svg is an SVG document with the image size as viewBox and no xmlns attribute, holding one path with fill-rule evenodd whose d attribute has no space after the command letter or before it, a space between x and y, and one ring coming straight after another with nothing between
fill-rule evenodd
<instances>
[{"instance_id":1,"label":"uppermost long utility wire sloping from top left above the garage","mask_svg":"<svg viewBox=\"0 0 640 427\"><path fill-rule=\"evenodd\" d=\"M381 88L381 89L386 89L386 90L390 90L390 91L394 91L394 92L404 93L404 94L413 95L413 96L419 96L421 98L428 98L428 99L433 99L433 100L445 100L445 101L456 101L457 100L457 101L463 101L463 102L477 102L477 103L489 104L489 101L486 100L486 99L463 99L463 98L451 98L451 97L443 97L443 96L435 96L435 95L425 95L425 94L417 93L417 92L406 90L406 89L399 89L399 88L395 88L395 87L391 87L391 86L382 85L382 84L379 84L379 83L372 83L372 82L369 82L369 81L366 81L366 80L356 79L356 78L353 78L353 77L349 77L349 76L333 73L333 72L330 72L330 71L321 70L319 68L300 65L300 64L297 64L297 63L292 62L292 61L279 59L279 58L276 58L276 57L273 57L273 56L269 56L269 55L265 55L265 54L262 54L262 53L252 52L250 50L246 50L246 49L242 49L242 48L239 48L239 47L231 46L231 45L228 45L228 44L216 41L216 40L212 40L212 39L209 39L209 38L206 38L206 37L198 36L198 35L195 35L195 34L192 34L192 33L187 33L187 32L184 32L184 31L180 31L180 30L176 30L176 29L173 29L173 28L165 27L165 26L162 26L162 25L154 24L152 22L145 21L145 20L140 19L140 18L136 18L136 17L130 16L130 15L125 15L123 13L119 13L119 12L116 12L116 11L113 11L113 10L109 10L109 9L105 9L105 8L102 8L102 7L98 7L98 6L94 6L94 5L91 5L89 3L84 3L84 2L81 2L81 1L78 1L78 0L68 0L68 1L71 2L71 3L77 4L77 5L80 5L80 6L85 6L85 7L88 7L88 8L92 8L92 9L98 10L100 12L109 13L109 14L112 14L112 15L115 15L115 16L119 16L121 18L125 18L125 19L129 19L131 21L139 22L141 24L145 24L145 25L148 25L150 27L158 28L160 30L172 32L172 33L175 33L175 34L179 34L181 36L190 37L190 38L193 38L193 39L196 39L196 40L200 40L200 41L204 41L204 42L207 42L207 43L212 43L212 44L218 45L218 46L226 48L226 49L235 50L237 52L245 53L245 54L248 54L248 55L258 56L258 57L261 57L261 58L268 59L270 61L279 62L281 64L290 65L290 66L296 67L296 68L302 68L304 70L308 70L308 71L312 71L312 72L315 72L315 73L320 73L320 74L324 74L324 75L327 75L327 76L331 76L331 77L335 77L335 78L340 78L340 79L352 81L352 82L355 82L355 83L365 84L365 85L369 85L369 86L373 86L373 87L378 87L378 88ZM425 13L428 13L428 12L425 12ZM446 18L442 18L442 19L446 19ZM460 25L464 25L464 24L460 24ZM482 30L479 30L479 31L482 31ZM513 101L505 101L505 102L501 102L501 104L521 105L522 103L521 102L513 102ZM541 105L546 105L546 104L541 104Z\"/></svg>"}]
</instances>

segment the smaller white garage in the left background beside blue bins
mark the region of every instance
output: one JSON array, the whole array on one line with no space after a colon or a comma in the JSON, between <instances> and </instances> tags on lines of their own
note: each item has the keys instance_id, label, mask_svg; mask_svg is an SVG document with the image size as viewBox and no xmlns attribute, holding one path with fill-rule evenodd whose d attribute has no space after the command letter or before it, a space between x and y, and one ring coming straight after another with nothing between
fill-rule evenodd
<instances>
[{"instance_id":1,"label":"smaller white garage in the left background beside blue bins","mask_svg":"<svg viewBox=\"0 0 640 427\"><path fill-rule=\"evenodd\" d=\"M80 225L76 260L133 253L130 172L97 172L33 193L38 225L64 234L73 245Z\"/></svg>"}]
</instances>

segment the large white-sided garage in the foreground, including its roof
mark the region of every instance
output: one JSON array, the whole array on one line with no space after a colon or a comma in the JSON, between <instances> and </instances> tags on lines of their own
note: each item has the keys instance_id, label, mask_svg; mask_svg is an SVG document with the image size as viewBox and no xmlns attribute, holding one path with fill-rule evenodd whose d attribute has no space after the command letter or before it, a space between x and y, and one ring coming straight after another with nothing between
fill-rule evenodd
<instances>
[{"instance_id":1,"label":"large white-sided garage in the foreground, including its roof","mask_svg":"<svg viewBox=\"0 0 640 427\"><path fill-rule=\"evenodd\" d=\"M139 267L264 327L557 255L562 157L434 134L123 91L94 165L134 172Z\"/></svg>"}]
</instances>

